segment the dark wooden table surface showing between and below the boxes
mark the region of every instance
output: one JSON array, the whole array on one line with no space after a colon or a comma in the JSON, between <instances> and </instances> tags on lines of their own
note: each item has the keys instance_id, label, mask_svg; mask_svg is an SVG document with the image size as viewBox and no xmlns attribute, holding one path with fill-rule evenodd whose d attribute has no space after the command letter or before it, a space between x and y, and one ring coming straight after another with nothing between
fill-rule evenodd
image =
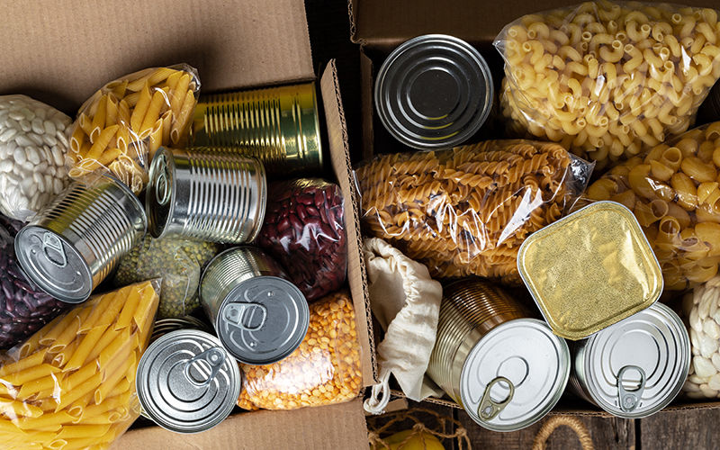
<instances>
[{"instance_id":1,"label":"dark wooden table surface showing between and below the boxes","mask_svg":"<svg viewBox=\"0 0 720 450\"><path fill-rule=\"evenodd\" d=\"M313 65L319 71L330 58L338 60L338 78L345 105L351 148L361 148L359 52L350 41L345 0L305 0ZM417 405L417 404L415 404ZM515 433L495 433L477 426L464 411L422 403L423 408L453 415L467 429L475 449L515 450L532 446L542 421ZM720 410L665 412L649 419L585 418L596 449L715 449L720 448ZM558 428L548 449L581 448L569 428Z\"/></svg>"}]
</instances>

